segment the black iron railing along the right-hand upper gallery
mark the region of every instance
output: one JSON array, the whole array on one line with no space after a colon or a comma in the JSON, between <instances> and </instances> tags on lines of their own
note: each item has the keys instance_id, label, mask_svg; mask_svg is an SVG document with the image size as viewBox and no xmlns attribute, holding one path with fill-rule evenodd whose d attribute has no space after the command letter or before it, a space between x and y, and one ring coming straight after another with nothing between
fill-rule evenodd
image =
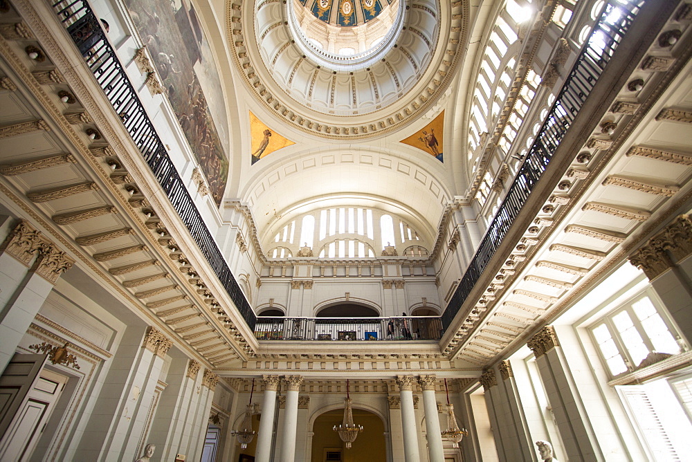
<instances>
[{"instance_id":1,"label":"black iron railing along the right-hand upper gallery","mask_svg":"<svg viewBox=\"0 0 692 462\"><path fill-rule=\"evenodd\" d=\"M507 196L490 223L471 264L442 313L442 324L445 330L459 312L490 259L495 255L512 221L518 216L522 205L545 172L552 155L583 107L605 66L610 62L615 49L630 28L643 3L643 0L614 0L603 6L599 21L594 26L587 44L581 50L572 72L565 80L565 85L552 105L543 126L540 127L514 183L509 187Z\"/></svg>"}]
</instances>

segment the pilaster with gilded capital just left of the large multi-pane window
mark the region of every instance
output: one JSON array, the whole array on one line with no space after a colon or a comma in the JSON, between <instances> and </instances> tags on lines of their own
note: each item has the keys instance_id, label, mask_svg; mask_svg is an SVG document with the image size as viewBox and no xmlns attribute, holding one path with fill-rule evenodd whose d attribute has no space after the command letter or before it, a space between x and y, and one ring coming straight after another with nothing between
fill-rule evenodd
<instances>
[{"instance_id":1,"label":"pilaster with gilded capital just left of the large multi-pane window","mask_svg":"<svg viewBox=\"0 0 692 462\"><path fill-rule=\"evenodd\" d=\"M567 457L563 456L561 459L604 460L605 454L599 447L597 436L586 414L584 401L576 389L553 326L540 329L527 342L527 346L536 356L538 372L565 445ZM601 399L599 397L599 401Z\"/></svg>"}]
</instances>

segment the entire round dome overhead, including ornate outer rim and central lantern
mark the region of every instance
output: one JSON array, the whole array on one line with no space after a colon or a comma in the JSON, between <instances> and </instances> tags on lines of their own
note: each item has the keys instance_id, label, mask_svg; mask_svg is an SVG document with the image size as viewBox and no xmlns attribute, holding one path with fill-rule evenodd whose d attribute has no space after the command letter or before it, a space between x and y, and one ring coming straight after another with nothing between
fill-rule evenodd
<instances>
[{"instance_id":1,"label":"entire round dome overhead, including ornate outer rim and central lantern","mask_svg":"<svg viewBox=\"0 0 692 462\"><path fill-rule=\"evenodd\" d=\"M446 91L468 35L468 8L439 0L230 3L228 42L248 90L282 123L321 138L371 138L401 129ZM347 16L354 26L345 26ZM327 33L311 33L314 24L365 28L356 42L367 53L337 48Z\"/></svg>"}]
</instances>

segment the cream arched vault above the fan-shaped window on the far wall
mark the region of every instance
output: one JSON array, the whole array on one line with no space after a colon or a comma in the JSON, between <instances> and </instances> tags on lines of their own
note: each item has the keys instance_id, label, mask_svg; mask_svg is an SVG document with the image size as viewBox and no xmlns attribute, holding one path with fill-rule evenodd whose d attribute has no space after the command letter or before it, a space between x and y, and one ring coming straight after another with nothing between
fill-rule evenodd
<instances>
[{"instance_id":1,"label":"cream arched vault above the fan-shaped window on the far wall","mask_svg":"<svg viewBox=\"0 0 692 462\"><path fill-rule=\"evenodd\" d=\"M298 211L298 207L309 203L314 204L313 209L322 207L317 201L353 206L358 205L352 203L353 198L365 198L369 207L410 216L410 224L419 232L432 232L426 236L432 243L444 204L452 198L438 179L443 177L443 165L431 156L408 160L381 149L353 146L295 149L254 172L240 198L251 207L262 242L277 222L308 211L304 207Z\"/></svg>"}]
</instances>

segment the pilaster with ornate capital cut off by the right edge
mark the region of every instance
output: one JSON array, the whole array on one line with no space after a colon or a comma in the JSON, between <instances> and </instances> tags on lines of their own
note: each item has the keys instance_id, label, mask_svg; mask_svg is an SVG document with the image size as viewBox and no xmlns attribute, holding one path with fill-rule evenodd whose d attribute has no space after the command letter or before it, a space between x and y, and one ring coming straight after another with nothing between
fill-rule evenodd
<instances>
[{"instance_id":1,"label":"pilaster with ornate capital cut off by the right edge","mask_svg":"<svg viewBox=\"0 0 692 462\"><path fill-rule=\"evenodd\" d=\"M680 332L692 342L692 216L677 216L630 257L644 271Z\"/></svg>"}]
</instances>

